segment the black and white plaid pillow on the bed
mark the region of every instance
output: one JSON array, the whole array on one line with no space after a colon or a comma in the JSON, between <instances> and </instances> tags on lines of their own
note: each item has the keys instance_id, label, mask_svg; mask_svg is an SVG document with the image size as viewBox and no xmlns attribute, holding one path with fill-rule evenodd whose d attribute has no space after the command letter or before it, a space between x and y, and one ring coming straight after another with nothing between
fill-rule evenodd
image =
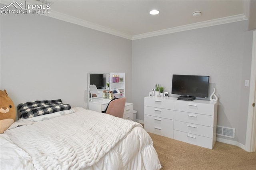
<instances>
[{"instance_id":1,"label":"black and white plaid pillow on the bed","mask_svg":"<svg viewBox=\"0 0 256 170\"><path fill-rule=\"evenodd\" d=\"M58 100L44 100L20 103L17 106L20 112L20 118L31 118L40 115L55 113L71 109L69 104L63 104L60 99Z\"/></svg>"}]
</instances>

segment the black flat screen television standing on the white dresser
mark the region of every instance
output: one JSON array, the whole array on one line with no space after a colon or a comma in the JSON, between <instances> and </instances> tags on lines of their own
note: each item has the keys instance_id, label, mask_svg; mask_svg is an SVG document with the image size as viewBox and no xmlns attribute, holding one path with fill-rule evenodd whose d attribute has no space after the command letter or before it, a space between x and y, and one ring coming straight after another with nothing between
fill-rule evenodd
<instances>
[{"instance_id":1,"label":"black flat screen television standing on the white dresser","mask_svg":"<svg viewBox=\"0 0 256 170\"><path fill-rule=\"evenodd\" d=\"M207 98L210 76L172 75L172 94L181 95L178 100L192 101L196 97Z\"/></svg>"}]
</instances>

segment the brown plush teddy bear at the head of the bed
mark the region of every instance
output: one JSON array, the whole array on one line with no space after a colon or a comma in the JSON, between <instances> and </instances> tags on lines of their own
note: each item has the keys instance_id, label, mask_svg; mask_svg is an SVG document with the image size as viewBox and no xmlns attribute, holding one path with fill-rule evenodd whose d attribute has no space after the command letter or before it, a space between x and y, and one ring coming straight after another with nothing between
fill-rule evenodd
<instances>
[{"instance_id":1,"label":"brown plush teddy bear at the head of the bed","mask_svg":"<svg viewBox=\"0 0 256 170\"><path fill-rule=\"evenodd\" d=\"M16 108L6 90L0 90L0 133L3 133L16 118Z\"/></svg>"}]
</instances>

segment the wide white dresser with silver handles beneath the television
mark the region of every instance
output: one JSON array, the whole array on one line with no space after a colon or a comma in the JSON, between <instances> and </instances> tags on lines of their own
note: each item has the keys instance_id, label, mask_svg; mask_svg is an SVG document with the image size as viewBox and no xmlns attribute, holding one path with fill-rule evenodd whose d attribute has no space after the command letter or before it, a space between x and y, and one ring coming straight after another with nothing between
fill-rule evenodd
<instances>
[{"instance_id":1,"label":"wide white dresser with silver handles beneath the television","mask_svg":"<svg viewBox=\"0 0 256 170\"><path fill-rule=\"evenodd\" d=\"M156 101L161 101L162 104L156 105ZM145 97L144 102L144 126L146 131L205 148L213 148L216 142L217 102L205 100L181 101L174 97L160 99ZM162 112L156 115L155 111L155 114L152 114L148 107L168 109L167 115L169 117L162 114ZM162 119L170 121L166 125L164 122L156 122L155 118L161 119L161 121ZM158 127L161 130L156 129ZM171 132L168 132L168 130Z\"/></svg>"}]
</instances>

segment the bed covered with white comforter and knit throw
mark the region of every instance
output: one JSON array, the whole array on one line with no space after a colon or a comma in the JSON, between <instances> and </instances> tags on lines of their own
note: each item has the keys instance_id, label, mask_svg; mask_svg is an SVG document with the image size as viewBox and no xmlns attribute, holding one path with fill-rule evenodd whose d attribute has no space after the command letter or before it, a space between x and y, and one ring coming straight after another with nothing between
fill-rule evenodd
<instances>
[{"instance_id":1,"label":"bed covered with white comforter and knit throw","mask_svg":"<svg viewBox=\"0 0 256 170\"><path fill-rule=\"evenodd\" d=\"M142 125L80 107L19 119L0 137L1 169L161 168Z\"/></svg>"}]
</instances>

